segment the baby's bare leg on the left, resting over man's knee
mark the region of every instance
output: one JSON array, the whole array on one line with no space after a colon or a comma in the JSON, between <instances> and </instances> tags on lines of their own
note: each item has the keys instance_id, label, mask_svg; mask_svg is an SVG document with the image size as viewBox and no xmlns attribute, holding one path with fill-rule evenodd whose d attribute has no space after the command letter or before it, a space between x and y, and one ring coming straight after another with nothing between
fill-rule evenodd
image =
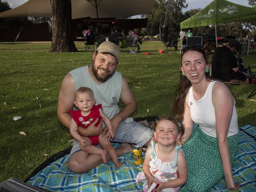
<instances>
[{"instance_id":1,"label":"baby's bare leg on the left, resting over man's knee","mask_svg":"<svg viewBox=\"0 0 256 192\"><path fill-rule=\"evenodd\" d=\"M89 145L86 147L83 147L79 144L81 150L90 154L101 155L103 162L106 163L107 162L106 155L108 153L107 150L97 148L96 146L92 145L92 142L89 138L87 137L83 137L83 138L89 143Z\"/></svg>"}]
</instances>

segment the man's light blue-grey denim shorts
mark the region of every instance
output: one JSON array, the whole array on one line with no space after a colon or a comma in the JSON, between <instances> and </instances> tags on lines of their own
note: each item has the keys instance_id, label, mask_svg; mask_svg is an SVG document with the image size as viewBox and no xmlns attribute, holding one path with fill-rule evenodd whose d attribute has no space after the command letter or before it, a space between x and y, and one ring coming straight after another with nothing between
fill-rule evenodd
<instances>
[{"instance_id":1,"label":"man's light blue-grey denim shorts","mask_svg":"<svg viewBox=\"0 0 256 192\"><path fill-rule=\"evenodd\" d=\"M115 138L111 139L111 141L135 143L142 147L153 136L153 132L152 129L135 122L132 118L126 118L120 122ZM97 147L98 146L100 145L98 144ZM80 150L79 142L74 140L70 156Z\"/></svg>"}]
</instances>

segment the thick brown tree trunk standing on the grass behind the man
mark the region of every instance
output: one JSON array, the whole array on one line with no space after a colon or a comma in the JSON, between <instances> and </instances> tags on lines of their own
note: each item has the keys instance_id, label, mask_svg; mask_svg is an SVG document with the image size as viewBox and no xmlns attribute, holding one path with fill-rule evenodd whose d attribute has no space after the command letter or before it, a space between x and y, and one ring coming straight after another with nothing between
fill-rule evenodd
<instances>
[{"instance_id":1,"label":"thick brown tree trunk standing on the grass behind the man","mask_svg":"<svg viewBox=\"0 0 256 192\"><path fill-rule=\"evenodd\" d=\"M51 0L51 52L77 52L72 37L71 0Z\"/></svg>"}]
</instances>

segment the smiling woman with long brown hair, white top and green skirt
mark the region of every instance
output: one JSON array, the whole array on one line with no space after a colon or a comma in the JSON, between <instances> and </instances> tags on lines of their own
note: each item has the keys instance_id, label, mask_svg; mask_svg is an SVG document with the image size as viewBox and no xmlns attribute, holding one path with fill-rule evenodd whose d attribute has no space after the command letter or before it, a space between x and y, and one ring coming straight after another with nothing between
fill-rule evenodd
<instances>
[{"instance_id":1,"label":"smiling woman with long brown hair, white top and green skirt","mask_svg":"<svg viewBox=\"0 0 256 192\"><path fill-rule=\"evenodd\" d=\"M226 188L238 189L240 184L232 175L239 139L234 97L224 83L210 77L201 45L182 48L181 70L173 113L185 126L186 187L193 192L208 191L224 175ZM193 122L197 128L193 129Z\"/></svg>"}]
</instances>

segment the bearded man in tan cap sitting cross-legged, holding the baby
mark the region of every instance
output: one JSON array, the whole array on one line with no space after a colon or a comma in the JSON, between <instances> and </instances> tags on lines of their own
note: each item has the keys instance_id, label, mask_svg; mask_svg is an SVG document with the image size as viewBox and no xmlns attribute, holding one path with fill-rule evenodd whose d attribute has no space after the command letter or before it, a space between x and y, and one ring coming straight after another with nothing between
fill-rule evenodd
<instances>
[{"instance_id":1,"label":"bearded man in tan cap sitting cross-legged, holding the baby","mask_svg":"<svg viewBox=\"0 0 256 192\"><path fill-rule=\"evenodd\" d=\"M120 48L116 44L106 41L100 44L93 53L93 64L82 66L70 71L62 81L58 99L58 119L69 128L71 122L70 109L73 107L75 92L80 87L89 87L93 90L96 104L101 103L104 113L111 120L116 132L113 141L124 142L116 149L120 156L131 150L127 143L136 143L140 147L148 146L151 142L153 131L148 127L138 124L128 118L136 110L136 100L128 86L126 79L115 68L120 59ZM117 103L119 99L125 107L120 111ZM74 109L74 108L73 108ZM85 137L103 135L108 127L102 128L102 123L96 127L95 120L86 129L78 127L78 133ZM110 140L109 137L106 140ZM107 161L110 157L107 155ZM69 158L69 169L74 173L88 172L95 166L102 164L100 155L88 154L79 150L79 144L73 143Z\"/></svg>"}]
</instances>

